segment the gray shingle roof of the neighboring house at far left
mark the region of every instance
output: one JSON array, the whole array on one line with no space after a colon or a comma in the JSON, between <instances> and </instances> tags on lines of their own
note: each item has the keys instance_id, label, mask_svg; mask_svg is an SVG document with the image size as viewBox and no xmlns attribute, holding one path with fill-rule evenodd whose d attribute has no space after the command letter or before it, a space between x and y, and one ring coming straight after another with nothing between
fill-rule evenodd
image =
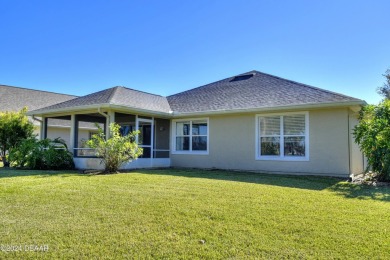
<instances>
[{"instance_id":1,"label":"gray shingle roof of the neighboring house at far left","mask_svg":"<svg viewBox=\"0 0 390 260\"><path fill-rule=\"evenodd\" d=\"M0 111L29 111L74 99L77 96L0 85Z\"/></svg>"}]
</instances>

